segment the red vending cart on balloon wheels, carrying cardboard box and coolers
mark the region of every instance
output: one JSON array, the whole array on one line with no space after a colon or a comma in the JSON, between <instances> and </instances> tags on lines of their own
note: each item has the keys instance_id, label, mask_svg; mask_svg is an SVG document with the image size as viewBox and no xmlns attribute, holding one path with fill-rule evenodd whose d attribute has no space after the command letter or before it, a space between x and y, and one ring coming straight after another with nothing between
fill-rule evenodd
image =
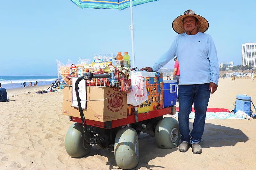
<instances>
[{"instance_id":1,"label":"red vending cart on balloon wheels, carrying cardboard box and coolers","mask_svg":"<svg viewBox=\"0 0 256 170\"><path fill-rule=\"evenodd\" d=\"M177 81L159 86L160 81L163 84L159 73L148 74L153 74L144 78L149 99L137 107L127 105L126 94L119 92L117 86L104 82L111 80L115 75L113 72L85 72L83 76L73 78L73 86L64 87L63 115L69 115L69 120L74 122L65 137L65 148L71 157L87 155L94 145L114 152L116 164L120 168L132 169L139 162L140 132L155 137L160 148L171 149L178 146L178 122L172 117L164 117L176 114L176 107L173 105L176 103ZM101 83L92 85L92 81L97 83L97 79ZM171 99L165 92L174 94L172 102L169 102ZM87 99L83 98L82 93ZM163 101L164 96L168 101Z\"/></svg>"}]
</instances>

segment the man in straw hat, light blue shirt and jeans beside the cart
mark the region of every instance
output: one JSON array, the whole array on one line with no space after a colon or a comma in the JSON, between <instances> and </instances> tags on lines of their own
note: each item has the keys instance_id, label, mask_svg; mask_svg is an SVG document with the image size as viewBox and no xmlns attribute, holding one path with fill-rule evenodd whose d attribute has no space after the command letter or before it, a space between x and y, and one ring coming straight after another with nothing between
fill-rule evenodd
<instances>
[{"instance_id":1,"label":"man in straw hat, light blue shirt and jeans beside the cart","mask_svg":"<svg viewBox=\"0 0 256 170\"><path fill-rule=\"evenodd\" d=\"M206 109L212 94L217 90L219 66L217 51L209 34L208 21L187 10L172 22L173 30L178 33L170 49L160 57L153 67L140 70L158 71L176 55L180 64L179 82L179 130L181 134L180 152L187 152L192 144L194 154L202 153L200 142L204 133ZM194 104L195 119L189 134L189 114Z\"/></svg>"}]
</instances>

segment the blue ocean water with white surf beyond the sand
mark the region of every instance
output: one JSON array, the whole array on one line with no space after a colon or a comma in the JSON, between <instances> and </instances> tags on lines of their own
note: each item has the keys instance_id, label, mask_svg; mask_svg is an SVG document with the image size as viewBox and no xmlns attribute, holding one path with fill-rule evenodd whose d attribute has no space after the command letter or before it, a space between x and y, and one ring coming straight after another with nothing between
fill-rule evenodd
<instances>
[{"instance_id":1,"label":"blue ocean water with white surf beyond the sand","mask_svg":"<svg viewBox=\"0 0 256 170\"><path fill-rule=\"evenodd\" d=\"M37 85L48 85L55 82L57 78L58 76L0 76L0 83L5 89L11 89L23 87L23 82L26 82L26 85L32 82L33 85L37 81Z\"/></svg>"}]
</instances>

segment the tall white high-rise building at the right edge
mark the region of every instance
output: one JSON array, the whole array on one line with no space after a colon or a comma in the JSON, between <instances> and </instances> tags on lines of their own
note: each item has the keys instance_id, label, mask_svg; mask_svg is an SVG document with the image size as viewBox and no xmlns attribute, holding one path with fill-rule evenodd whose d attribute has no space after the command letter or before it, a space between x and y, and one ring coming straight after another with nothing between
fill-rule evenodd
<instances>
[{"instance_id":1,"label":"tall white high-rise building at the right edge","mask_svg":"<svg viewBox=\"0 0 256 170\"><path fill-rule=\"evenodd\" d=\"M242 66L256 66L255 64L255 57L256 55L256 43L255 42L248 42L242 44Z\"/></svg>"}]
</instances>

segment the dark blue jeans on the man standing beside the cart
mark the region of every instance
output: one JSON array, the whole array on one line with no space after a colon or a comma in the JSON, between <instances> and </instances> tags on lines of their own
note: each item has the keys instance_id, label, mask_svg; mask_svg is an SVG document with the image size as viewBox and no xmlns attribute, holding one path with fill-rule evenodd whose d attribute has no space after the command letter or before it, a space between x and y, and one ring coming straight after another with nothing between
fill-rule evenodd
<instances>
[{"instance_id":1,"label":"dark blue jeans on the man standing beside the cart","mask_svg":"<svg viewBox=\"0 0 256 170\"><path fill-rule=\"evenodd\" d=\"M179 129L181 142L200 143L204 133L206 109L210 93L209 83L198 85L179 85ZM189 135L189 114L194 103L195 119Z\"/></svg>"}]
</instances>

